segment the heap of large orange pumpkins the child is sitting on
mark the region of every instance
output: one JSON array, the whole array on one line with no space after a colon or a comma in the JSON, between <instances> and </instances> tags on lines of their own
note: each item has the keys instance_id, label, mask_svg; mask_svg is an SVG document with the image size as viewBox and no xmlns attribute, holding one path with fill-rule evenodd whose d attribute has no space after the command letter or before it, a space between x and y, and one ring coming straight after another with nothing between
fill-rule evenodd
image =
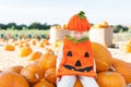
<instances>
[{"instance_id":1,"label":"heap of large orange pumpkins the child is sitting on","mask_svg":"<svg viewBox=\"0 0 131 87\"><path fill-rule=\"evenodd\" d=\"M131 63L112 58L104 46L92 42L99 87L126 87L131 83ZM26 54L26 52L25 52ZM26 54L27 55L27 54ZM0 73L0 87L56 87L57 55L51 49L32 55L26 66L13 66ZM79 78L74 87L83 87Z\"/></svg>"}]
</instances>

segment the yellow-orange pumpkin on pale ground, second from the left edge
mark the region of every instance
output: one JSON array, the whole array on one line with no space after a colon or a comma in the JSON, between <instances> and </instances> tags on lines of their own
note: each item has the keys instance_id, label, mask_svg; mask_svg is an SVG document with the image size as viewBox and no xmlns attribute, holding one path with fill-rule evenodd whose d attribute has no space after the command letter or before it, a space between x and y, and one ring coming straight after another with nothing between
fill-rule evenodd
<instances>
[{"instance_id":1,"label":"yellow-orange pumpkin on pale ground, second from the left edge","mask_svg":"<svg viewBox=\"0 0 131 87\"><path fill-rule=\"evenodd\" d=\"M22 47L22 48L20 49L19 55L20 55L20 57L27 57L27 55L29 55L32 52L33 52L33 50L32 50L31 47Z\"/></svg>"}]
</instances>

